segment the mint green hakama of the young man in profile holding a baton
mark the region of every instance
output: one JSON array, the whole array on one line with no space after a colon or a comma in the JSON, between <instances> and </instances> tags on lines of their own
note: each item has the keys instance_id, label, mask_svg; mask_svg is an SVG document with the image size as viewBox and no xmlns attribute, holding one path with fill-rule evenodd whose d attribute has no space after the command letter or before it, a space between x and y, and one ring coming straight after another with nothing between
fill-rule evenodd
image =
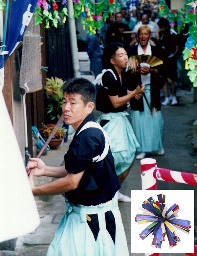
<instances>
[{"instance_id":1,"label":"mint green hakama of the young man in profile holding a baton","mask_svg":"<svg viewBox=\"0 0 197 256\"><path fill-rule=\"evenodd\" d=\"M115 160L115 170L117 176L120 176L132 164L136 148L140 146L133 128L126 117L129 115L126 111L118 113L103 113L99 116L97 122L109 120L103 126L107 132L111 144L110 148Z\"/></svg>"}]
</instances>

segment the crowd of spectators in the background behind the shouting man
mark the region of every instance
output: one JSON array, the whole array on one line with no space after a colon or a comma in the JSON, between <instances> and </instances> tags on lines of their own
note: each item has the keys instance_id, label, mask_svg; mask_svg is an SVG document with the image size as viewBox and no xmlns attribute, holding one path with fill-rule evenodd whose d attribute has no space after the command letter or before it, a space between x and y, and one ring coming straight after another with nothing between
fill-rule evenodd
<instances>
[{"instance_id":1,"label":"crowd of spectators in the background behind the shouting man","mask_svg":"<svg viewBox=\"0 0 197 256\"><path fill-rule=\"evenodd\" d=\"M147 1L147 3L148 2L149 1ZM97 32L97 41L102 49L109 43L120 42L123 44L128 56L130 56L129 48L133 45L137 45L139 42L137 36L138 29L142 25L148 26L151 31L151 38L149 39L150 45L157 46L161 49L161 53L163 52L161 58L165 62L166 82L163 89L164 101L162 104L170 104L171 100L171 105L176 105L178 103L175 91L175 85L178 83L176 62L184 46L184 43L182 43L184 36L177 34L176 27L175 30L170 29L168 20L160 16L156 2L153 3L151 1L149 4L140 4L138 7L131 5L129 8L121 8L121 11L118 13L110 14L106 22L103 22L102 29ZM87 38L87 41L90 41L90 37L88 36ZM171 40L168 41L169 38L173 38L173 42ZM88 49L87 41L86 49ZM92 58L91 53L89 56ZM173 68L169 69L167 66L172 60ZM95 66L95 63L93 66ZM104 63L102 62L102 67L101 63L99 63L99 66L99 69L102 69ZM172 73L174 75L171 75ZM95 78L97 74L95 74Z\"/></svg>"}]
</instances>

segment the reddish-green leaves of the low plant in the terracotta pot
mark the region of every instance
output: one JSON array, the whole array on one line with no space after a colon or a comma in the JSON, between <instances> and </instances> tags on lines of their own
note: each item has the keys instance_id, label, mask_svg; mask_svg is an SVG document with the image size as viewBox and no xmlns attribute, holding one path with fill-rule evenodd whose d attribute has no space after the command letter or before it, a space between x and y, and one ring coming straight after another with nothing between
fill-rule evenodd
<instances>
[{"instance_id":1,"label":"reddish-green leaves of the low plant in the terracotta pot","mask_svg":"<svg viewBox=\"0 0 197 256\"><path fill-rule=\"evenodd\" d=\"M48 139L51 133L55 128L55 124L42 124L42 128L39 129L39 132L44 139ZM55 132L52 139L62 139L66 135L67 129L63 127L63 124Z\"/></svg>"}]
</instances>

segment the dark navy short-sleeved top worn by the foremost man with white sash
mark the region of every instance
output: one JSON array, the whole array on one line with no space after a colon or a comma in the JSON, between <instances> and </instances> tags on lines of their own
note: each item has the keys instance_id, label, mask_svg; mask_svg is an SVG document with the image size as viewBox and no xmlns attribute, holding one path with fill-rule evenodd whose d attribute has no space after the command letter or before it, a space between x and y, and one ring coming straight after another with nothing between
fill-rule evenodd
<instances>
[{"instance_id":1,"label":"dark navy short-sleeved top worn by the foremost man with white sash","mask_svg":"<svg viewBox=\"0 0 197 256\"><path fill-rule=\"evenodd\" d=\"M66 192L65 196L71 203L85 206L105 203L120 189L109 147L104 159L98 160L106 144L102 130L92 127L78 133L90 121L96 122L93 114L88 115L79 126L64 156L68 172L77 174L85 171L77 189Z\"/></svg>"}]
</instances>

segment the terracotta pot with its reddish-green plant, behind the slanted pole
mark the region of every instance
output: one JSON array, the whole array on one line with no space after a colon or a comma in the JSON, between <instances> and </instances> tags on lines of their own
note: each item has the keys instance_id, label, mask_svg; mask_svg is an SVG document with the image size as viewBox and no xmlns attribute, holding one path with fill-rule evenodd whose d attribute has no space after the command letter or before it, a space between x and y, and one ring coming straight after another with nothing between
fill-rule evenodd
<instances>
[{"instance_id":1,"label":"terracotta pot with its reddish-green plant, behind the slanted pole","mask_svg":"<svg viewBox=\"0 0 197 256\"><path fill-rule=\"evenodd\" d=\"M42 128L39 129L39 132L42 138L47 141L49 136L51 135L52 131L55 128L55 124L42 124ZM51 149L58 149L59 145L63 141L65 135L67 133L67 129L63 127L63 124L57 129L52 140L49 142L49 146Z\"/></svg>"}]
</instances>

